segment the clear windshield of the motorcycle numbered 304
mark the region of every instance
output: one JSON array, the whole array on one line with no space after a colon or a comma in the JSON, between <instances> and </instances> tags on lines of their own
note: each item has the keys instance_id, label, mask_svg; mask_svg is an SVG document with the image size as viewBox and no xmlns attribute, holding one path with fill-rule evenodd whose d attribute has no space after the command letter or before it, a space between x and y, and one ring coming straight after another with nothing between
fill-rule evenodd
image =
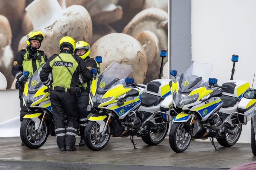
<instances>
[{"instance_id":1,"label":"clear windshield of the motorcycle numbered 304","mask_svg":"<svg viewBox=\"0 0 256 170\"><path fill-rule=\"evenodd\" d=\"M131 65L113 62L98 76L97 92L105 93L117 84L123 84L125 87L125 78L129 76L131 71Z\"/></svg>"}]
</instances>

